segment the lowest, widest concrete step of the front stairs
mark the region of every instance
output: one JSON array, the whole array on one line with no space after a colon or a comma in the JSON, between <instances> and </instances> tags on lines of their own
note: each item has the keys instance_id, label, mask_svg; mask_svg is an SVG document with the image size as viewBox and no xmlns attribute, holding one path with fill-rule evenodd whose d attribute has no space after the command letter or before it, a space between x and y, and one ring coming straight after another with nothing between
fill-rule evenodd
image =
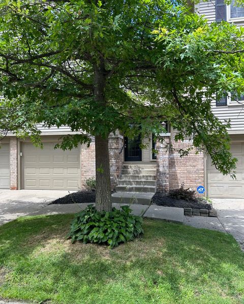
<instances>
[{"instance_id":1,"label":"lowest, widest concrete step of the front stairs","mask_svg":"<svg viewBox=\"0 0 244 304\"><path fill-rule=\"evenodd\" d=\"M112 194L112 203L149 205L154 193L148 192L115 192Z\"/></svg>"}]
</instances>

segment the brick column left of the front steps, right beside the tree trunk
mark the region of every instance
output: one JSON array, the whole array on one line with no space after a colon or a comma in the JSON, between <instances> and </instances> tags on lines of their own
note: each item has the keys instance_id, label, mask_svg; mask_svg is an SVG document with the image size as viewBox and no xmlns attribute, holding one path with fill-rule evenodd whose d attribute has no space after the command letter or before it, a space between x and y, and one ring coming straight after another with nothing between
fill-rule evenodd
<instances>
[{"instance_id":1,"label":"brick column left of the front steps, right beside the tree trunk","mask_svg":"<svg viewBox=\"0 0 244 304\"><path fill-rule=\"evenodd\" d=\"M118 183L118 177L124 162L124 137L119 134L109 135L109 162L110 162L110 183L114 189Z\"/></svg>"}]
</instances>

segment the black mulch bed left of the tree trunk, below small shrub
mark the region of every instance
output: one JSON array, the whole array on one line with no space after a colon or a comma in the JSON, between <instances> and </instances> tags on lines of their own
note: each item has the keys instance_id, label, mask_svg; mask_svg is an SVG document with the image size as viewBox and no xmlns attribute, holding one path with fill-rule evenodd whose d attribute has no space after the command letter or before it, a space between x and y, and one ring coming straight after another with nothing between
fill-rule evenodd
<instances>
[{"instance_id":1,"label":"black mulch bed left of the tree trunk, below small shrub","mask_svg":"<svg viewBox=\"0 0 244 304\"><path fill-rule=\"evenodd\" d=\"M94 203L96 200L95 191L82 190L60 197L51 204L74 204L74 203Z\"/></svg>"}]
</instances>

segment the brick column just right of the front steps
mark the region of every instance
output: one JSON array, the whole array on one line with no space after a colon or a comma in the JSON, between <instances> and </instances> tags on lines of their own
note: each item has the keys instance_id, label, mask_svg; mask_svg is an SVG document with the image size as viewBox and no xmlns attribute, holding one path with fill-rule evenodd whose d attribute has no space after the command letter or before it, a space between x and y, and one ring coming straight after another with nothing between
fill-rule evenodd
<instances>
[{"instance_id":1,"label":"brick column just right of the front steps","mask_svg":"<svg viewBox=\"0 0 244 304\"><path fill-rule=\"evenodd\" d=\"M169 192L169 136L162 136L161 142L157 140L156 149L157 154L157 191L167 193Z\"/></svg>"}]
</instances>

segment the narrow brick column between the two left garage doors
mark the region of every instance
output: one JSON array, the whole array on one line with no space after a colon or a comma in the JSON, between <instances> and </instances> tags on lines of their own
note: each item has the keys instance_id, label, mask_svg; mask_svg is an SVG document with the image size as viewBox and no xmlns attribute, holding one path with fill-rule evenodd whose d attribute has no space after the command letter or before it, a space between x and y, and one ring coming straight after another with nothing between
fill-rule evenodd
<instances>
[{"instance_id":1,"label":"narrow brick column between the two left garage doors","mask_svg":"<svg viewBox=\"0 0 244 304\"><path fill-rule=\"evenodd\" d=\"M18 148L17 137L10 138L10 189L18 189Z\"/></svg>"}]
</instances>

